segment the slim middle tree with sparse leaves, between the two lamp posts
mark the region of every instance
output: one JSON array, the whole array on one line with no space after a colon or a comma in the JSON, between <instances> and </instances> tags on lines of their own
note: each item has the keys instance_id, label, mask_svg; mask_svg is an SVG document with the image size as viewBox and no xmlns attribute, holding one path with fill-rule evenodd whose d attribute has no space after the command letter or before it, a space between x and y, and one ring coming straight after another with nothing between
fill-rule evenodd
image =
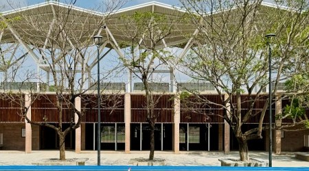
<instances>
[{"instance_id":1,"label":"slim middle tree with sparse leaves, between the two lamp posts","mask_svg":"<svg viewBox=\"0 0 309 171\"><path fill-rule=\"evenodd\" d=\"M118 21L122 22L118 29L124 40L120 46L125 47L125 55L121 60L130 73L142 82L142 90L145 91L146 121L150 126L150 160L155 155L155 124L160 116L155 108L161 96L168 91L156 90L156 87L163 85L160 83L163 78L159 74L157 77L154 75L162 68L170 69L168 61L173 54L164 49L164 40L172 34L178 21L179 18L153 12L135 12L130 16L122 16Z\"/></svg>"}]
</instances>

